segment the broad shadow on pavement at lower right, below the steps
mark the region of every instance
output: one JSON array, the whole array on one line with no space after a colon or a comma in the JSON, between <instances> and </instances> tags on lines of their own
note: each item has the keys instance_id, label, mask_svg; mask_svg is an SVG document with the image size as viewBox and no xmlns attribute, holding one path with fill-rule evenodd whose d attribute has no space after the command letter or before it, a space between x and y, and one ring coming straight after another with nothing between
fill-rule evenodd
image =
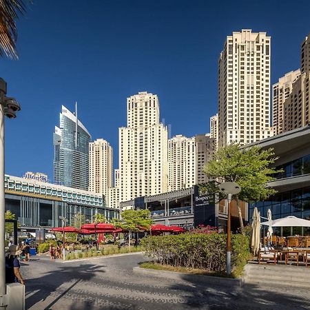
<instances>
[{"instance_id":1,"label":"broad shadow on pavement at lower right, below the steps","mask_svg":"<svg viewBox=\"0 0 310 310\"><path fill-rule=\"evenodd\" d=\"M293 295L289 287L262 287L246 284L243 287L203 284L192 276L182 276L183 284L173 285L171 289L182 291L187 298L185 304L192 309L310 309L310 299L304 286L303 296ZM294 288L294 291L300 291Z\"/></svg>"}]
</instances>

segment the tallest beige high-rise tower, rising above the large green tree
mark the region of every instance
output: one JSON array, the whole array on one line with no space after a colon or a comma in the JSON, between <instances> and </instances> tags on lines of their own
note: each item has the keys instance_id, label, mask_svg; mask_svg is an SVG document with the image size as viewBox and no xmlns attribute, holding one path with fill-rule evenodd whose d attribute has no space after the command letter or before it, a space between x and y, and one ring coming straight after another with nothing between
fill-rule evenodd
<instances>
[{"instance_id":1,"label":"tallest beige high-rise tower, rising above the large green tree","mask_svg":"<svg viewBox=\"0 0 310 310\"><path fill-rule=\"evenodd\" d=\"M219 147L271 136L271 37L243 29L227 36L218 62Z\"/></svg>"}]
</instances>

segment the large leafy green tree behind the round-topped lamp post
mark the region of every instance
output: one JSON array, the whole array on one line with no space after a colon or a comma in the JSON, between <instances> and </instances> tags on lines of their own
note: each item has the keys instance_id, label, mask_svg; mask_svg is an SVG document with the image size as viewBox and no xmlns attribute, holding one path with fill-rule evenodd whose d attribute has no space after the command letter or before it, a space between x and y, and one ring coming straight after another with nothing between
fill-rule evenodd
<instances>
[{"instance_id":1,"label":"large leafy green tree behind the round-topped lamp post","mask_svg":"<svg viewBox=\"0 0 310 310\"><path fill-rule=\"evenodd\" d=\"M238 144L227 145L218 149L214 158L207 163L204 172L211 182L202 185L203 192L223 194L218 188L218 182L236 182L241 187L241 192L232 198L236 200L240 228L243 232L243 221L240 201L247 203L265 200L276 193L275 189L267 186L274 180L273 174L280 172L270 165L278 159L274 156L273 149L262 149L258 146L240 147Z\"/></svg>"}]
</instances>

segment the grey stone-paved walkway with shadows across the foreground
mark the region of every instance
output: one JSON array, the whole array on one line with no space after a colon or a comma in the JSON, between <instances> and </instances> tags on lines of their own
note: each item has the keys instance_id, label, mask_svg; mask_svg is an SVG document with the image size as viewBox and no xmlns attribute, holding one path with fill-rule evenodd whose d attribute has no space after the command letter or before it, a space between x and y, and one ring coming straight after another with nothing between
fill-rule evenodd
<instances>
[{"instance_id":1,"label":"grey stone-paved walkway with shadows across the foreground","mask_svg":"<svg viewBox=\"0 0 310 310\"><path fill-rule=\"evenodd\" d=\"M26 309L310 309L309 283L292 287L220 287L192 278L134 273L142 254L77 262L34 256L23 263Z\"/></svg>"}]
</instances>

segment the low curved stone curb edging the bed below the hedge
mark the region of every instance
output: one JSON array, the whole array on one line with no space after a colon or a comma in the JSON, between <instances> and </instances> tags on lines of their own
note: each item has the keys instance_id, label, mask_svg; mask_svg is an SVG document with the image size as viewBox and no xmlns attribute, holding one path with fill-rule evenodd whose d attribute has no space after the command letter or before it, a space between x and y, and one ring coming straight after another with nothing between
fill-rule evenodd
<instances>
[{"instance_id":1,"label":"low curved stone curb edging the bed below the hedge","mask_svg":"<svg viewBox=\"0 0 310 310\"><path fill-rule=\"evenodd\" d=\"M209 285L225 285L228 287L242 287L245 283L244 278L221 278L216 276L205 276L205 275L194 275L185 272L178 271L165 271L165 270L156 270L156 269L146 269L141 267L134 267L134 273L145 274L148 276L156 276L158 278L168 278L172 280L182 280L189 282L198 282L201 284Z\"/></svg>"}]
</instances>

